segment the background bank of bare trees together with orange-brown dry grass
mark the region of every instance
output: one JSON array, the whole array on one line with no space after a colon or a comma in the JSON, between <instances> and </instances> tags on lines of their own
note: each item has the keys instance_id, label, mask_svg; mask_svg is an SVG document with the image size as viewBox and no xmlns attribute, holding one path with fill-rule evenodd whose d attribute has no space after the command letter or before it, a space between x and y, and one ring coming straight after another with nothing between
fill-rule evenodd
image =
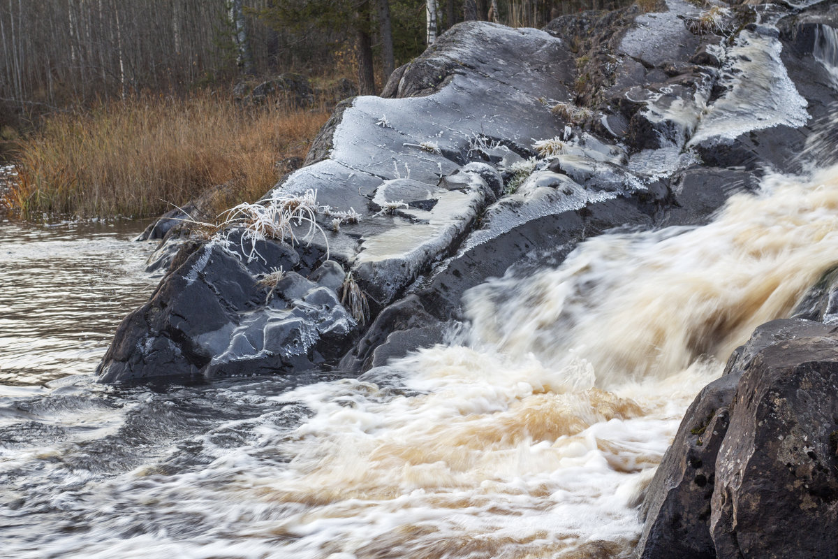
<instances>
[{"instance_id":1,"label":"background bank of bare trees together with orange-brown dry grass","mask_svg":"<svg viewBox=\"0 0 838 559\"><path fill-rule=\"evenodd\" d=\"M0 157L17 173L0 195L25 219L256 199L336 101L380 91L452 25L615 3L0 0Z\"/></svg>"}]
</instances>

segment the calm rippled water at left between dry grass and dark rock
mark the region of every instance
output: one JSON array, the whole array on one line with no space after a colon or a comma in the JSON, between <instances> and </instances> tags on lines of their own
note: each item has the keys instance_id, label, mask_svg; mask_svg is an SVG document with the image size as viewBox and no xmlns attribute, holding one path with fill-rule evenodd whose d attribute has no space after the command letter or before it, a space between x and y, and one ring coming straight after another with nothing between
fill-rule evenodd
<instances>
[{"instance_id":1,"label":"calm rippled water at left between dry grass and dark rock","mask_svg":"<svg viewBox=\"0 0 838 559\"><path fill-rule=\"evenodd\" d=\"M144 223L0 222L0 383L40 384L89 373L116 325L159 278Z\"/></svg>"}]
</instances>

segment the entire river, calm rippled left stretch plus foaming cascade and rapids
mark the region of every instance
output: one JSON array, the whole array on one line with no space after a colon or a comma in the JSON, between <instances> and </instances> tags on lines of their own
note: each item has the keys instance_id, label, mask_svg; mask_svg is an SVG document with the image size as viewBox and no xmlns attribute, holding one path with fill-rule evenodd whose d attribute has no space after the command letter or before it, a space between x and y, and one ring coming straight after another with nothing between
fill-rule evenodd
<instances>
[{"instance_id":1,"label":"entire river, calm rippled left stretch plus foaming cascade and rapids","mask_svg":"<svg viewBox=\"0 0 838 559\"><path fill-rule=\"evenodd\" d=\"M141 227L0 225L3 555L625 556L685 407L838 260L838 168L490 280L360 379L97 384Z\"/></svg>"}]
</instances>

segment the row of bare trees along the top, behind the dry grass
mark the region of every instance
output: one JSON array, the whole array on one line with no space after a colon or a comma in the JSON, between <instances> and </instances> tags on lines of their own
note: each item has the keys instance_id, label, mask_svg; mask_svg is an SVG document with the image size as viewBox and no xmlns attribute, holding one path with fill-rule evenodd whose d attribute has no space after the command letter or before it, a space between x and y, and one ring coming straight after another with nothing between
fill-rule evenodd
<instances>
[{"instance_id":1,"label":"row of bare trees along the top, behind the dry grass","mask_svg":"<svg viewBox=\"0 0 838 559\"><path fill-rule=\"evenodd\" d=\"M0 101L65 106L354 57L359 89L453 24L541 26L609 0L0 0ZM347 49L346 45L351 45ZM343 46L343 50L341 47Z\"/></svg>"}]
</instances>

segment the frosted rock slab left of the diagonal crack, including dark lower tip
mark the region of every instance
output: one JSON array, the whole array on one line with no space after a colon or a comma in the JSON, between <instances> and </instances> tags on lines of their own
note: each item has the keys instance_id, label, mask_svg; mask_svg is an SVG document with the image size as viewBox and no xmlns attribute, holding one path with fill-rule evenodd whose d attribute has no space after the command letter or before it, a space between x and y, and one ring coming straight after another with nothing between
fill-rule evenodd
<instances>
[{"instance_id":1,"label":"frosted rock slab left of the diagonal crack, including dark lower tip","mask_svg":"<svg viewBox=\"0 0 838 559\"><path fill-rule=\"evenodd\" d=\"M313 235L296 225L305 241L290 246L246 238L246 230L230 241L227 230L158 251L155 266L168 272L117 330L101 380L336 363L367 318L350 308L350 286L357 282L375 315L453 254L503 194L497 163L530 157L535 140L564 129L541 98L568 100L574 71L561 40L543 31L454 28L401 72L400 98L339 106L309 164L266 194L308 199L320 228ZM327 258L340 281L323 286L315 276ZM271 292L259 287L280 270Z\"/></svg>"}]
</instances>

